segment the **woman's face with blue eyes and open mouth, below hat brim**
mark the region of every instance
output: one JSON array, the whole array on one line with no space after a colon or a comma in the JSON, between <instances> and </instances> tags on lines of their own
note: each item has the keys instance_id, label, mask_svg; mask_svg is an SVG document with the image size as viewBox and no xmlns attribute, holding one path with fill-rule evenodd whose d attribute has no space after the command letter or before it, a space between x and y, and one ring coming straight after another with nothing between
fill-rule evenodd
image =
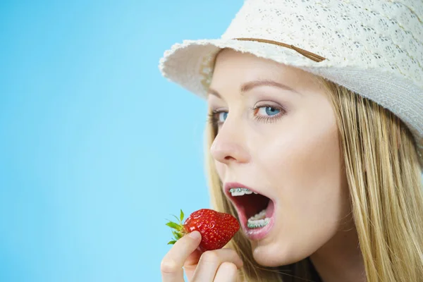
<instances>
[{"instance_id":1,"label":"woman's face with blue eyes and open mouth, below hat brim","mask_svg":"<svg viewBox=\"0 0 423 282\"><path fill-rule=\"evenodd\" d=\"M219 129L210 149L255 260L264 266L312 255L350 212L335 116L312 78L231 49L216 59L208 104ZM237 186L259 194L231 195L228 189ZM247 219L264 209L256 218L263 220L248 227Z\"/></svg>"}]
</instances>

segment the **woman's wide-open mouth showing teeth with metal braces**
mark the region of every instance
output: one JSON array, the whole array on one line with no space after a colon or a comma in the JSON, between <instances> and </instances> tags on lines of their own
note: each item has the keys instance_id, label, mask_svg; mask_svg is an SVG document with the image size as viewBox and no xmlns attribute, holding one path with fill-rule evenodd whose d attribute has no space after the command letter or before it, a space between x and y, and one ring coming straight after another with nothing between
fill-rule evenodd
<instances>
[{"instance_id":1,"label":"woman's wide-open mouth showing teeth with metal braces","mask_svg":"<svg viewBox=\"0 0 423 282\"><path fill-rule=\"evenodd\" d=\"M231 195L243 226L262 228L269 223L274 204L268 197L247 188L231 188L228 194Z\"/></svg>"}]
</instances>

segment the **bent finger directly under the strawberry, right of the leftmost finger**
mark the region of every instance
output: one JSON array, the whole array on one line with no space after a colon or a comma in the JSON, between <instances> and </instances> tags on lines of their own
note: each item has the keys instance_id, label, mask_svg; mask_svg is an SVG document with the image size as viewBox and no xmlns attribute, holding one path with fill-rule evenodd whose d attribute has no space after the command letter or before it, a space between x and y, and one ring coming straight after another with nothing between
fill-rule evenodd
<instances>
[{"instance_id":1,"label":"bent finger directly under the strawberry, right of the leftmost finger","mask_svg":"<svg viewBox=\"0 0 423 282\"><path fill-rule=\"evenodd\" d=\"M200 261L195 269L192 281L195 282L212 282L216 271L223 262L231 262L241 268L243 261L238 256L237 252L232 249L225 248L220 250L207 251L202 254Z\"/></svg>"}]
</instances>

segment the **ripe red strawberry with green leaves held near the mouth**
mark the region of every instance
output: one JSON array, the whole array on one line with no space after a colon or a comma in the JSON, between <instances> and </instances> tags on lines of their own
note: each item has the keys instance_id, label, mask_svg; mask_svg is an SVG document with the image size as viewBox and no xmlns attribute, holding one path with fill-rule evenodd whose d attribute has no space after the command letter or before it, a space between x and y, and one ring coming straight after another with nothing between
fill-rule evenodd
<instances>
[{"instance_id":1,"label":"ripe red strawberry with green leaves held near the mouth","mask_svg":"<svg viewBox=\"0 0 423 282\"><path fill-rule=\"evenodd\" d=\"M176 217L176 219L178 218ZM199 209L190 214L183 224L183 212L181 209L178 221L179 223L172 221L166 223L167 226L175 229L172 231L175 240L170 241L168 244L174 244L183 235L196 230L202 235L199 246L202 252L220 249L240 229L240 224L231 214L216 212L213 209Z\"/></svg>"}]
</instances>

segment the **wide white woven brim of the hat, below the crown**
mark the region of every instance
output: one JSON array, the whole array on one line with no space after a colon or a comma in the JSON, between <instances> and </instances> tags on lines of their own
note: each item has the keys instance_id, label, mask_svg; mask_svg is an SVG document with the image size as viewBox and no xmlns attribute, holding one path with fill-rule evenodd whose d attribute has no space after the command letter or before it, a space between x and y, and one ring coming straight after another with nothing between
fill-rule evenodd
<instances>
[{"instance_id":1,"label":"wide white woven brim of the hat, below the crown","mask_svg":"<svg viewBox=\"0 0 423 282\"><path fill-rule=\"evenodd\" d=\"M391 71L362 67L354 61L339 59L313 61L293 49L255 41L237 39L184 40L173 44L160 59L159 69L168 78L186 90L207 97L207 72L221 49L250 53L288 66L320 75L357 94L371 99L393 111L410 128L417 140L417 153L423 168L423 87ZM402 103L398 103L398 94ZM407 113L407 114L405 114ZM417 121L417 124L416 124Z\"/></svg>"}]
</instances>

